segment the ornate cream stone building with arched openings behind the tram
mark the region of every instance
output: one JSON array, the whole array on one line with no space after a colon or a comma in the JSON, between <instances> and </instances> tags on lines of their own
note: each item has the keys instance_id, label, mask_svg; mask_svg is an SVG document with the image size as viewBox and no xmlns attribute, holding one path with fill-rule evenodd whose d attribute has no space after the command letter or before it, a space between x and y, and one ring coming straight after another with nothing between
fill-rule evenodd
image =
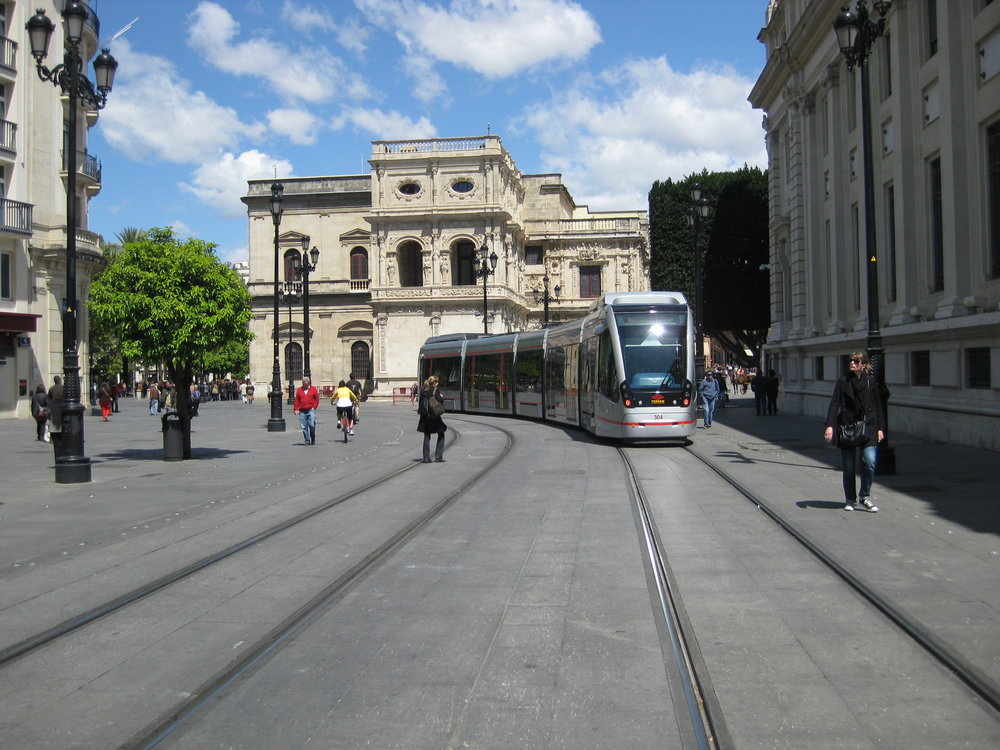
<instances>
[{"instance_id":1,"label":"ornate cream stone building with arched openings behind the tram","mask_svg":"<svg viewBox=\"0 0 1000 750\"><path fill-rule=\"evenodd\" d=\"M249 183L258 394L271 382L275 327L286 388L303 369L301 296L282 295L274 319L276 244L282 292L298 291L293 259L320 251L309 275L313 382L336 385L353 371L375 397L409 388L429 336L482 333L484 321L490 333L538 328L546 310L556 323L604 292L649 289L646 212L578 206L560 175L522 174L496 135L374 141L370 164L370 174L282 180L277 232L273 181Z\"/></svg>"}]
</instances>

